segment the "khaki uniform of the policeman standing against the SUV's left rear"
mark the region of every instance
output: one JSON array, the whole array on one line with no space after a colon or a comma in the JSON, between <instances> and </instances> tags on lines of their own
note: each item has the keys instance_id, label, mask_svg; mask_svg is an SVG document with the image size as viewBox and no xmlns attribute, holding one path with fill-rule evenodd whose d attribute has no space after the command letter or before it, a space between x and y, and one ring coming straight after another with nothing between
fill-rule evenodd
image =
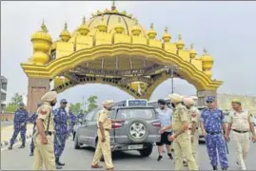
<instances>
[{"instance_id":1,"label":"khaki uniform of the policeman standing against the SUV's left rear","mask_svg":"<svg viewBox=\"0 0 256 171\"><path fill-rule=\"evenodd\" d=\"M105 142L102 142L102 135L99 128L100 122L103 123L103 127L105 129L105 139L106 139ZM111 158L111 149L110 149L110 137L109 137L109 130L111 129L111 120L109 117L109 111L106 108L103 108L98 113L97 125L98 125L98 129L97 129L98 143L97 143L96 151L92 161L92 165L98 164L103 155L107 169L110 169L110 168L113 168L113 163Z\"/></svg>"}]
</instances>

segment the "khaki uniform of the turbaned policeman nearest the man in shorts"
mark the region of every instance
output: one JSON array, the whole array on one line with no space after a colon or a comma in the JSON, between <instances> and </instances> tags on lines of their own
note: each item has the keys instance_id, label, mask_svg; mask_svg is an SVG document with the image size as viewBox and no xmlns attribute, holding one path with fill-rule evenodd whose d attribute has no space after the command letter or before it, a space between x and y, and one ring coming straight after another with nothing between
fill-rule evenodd
<instances>
[{"instance_id":1,"label":"khaki uniform of the turbaned policeman nearest the man in shorts","mask_svg":"<svg viewBox=\"0 0 256 171\"><path fill-rule=\"evenodd\" d=\"M182 129L183 122L188 122L187 108L182 104L178 104L175 107L172 115L172 130L174 133L176 133ZM175 153L175 170L184 170L183 153L187 159L188 169L198 170L198 165L192 155L191 142L187 131L179 135L173 141L173 145Z\"/></svg>"}]
</instances>

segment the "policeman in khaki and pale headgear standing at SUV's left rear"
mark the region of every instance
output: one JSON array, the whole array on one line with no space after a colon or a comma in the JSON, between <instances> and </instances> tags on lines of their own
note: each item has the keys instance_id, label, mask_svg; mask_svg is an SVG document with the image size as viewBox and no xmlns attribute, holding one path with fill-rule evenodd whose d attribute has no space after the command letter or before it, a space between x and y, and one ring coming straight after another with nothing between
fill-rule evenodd
<instances>
[{"instance_id":1,"label":"policeman in khaki and pale headgear standing at SUV's left rear","mask_svg":"<svg viewBox=\"0 0 256 171\"><path fill-rule=\"evenodd\" d=\"M111 129L111 123L122 123L124 121L110 119L109 110L113 106L113 103L114 103L113 101L107 100L106 102L103 103L103 109L98 113L98 117L97 117L98 143L97 143L93 161L91 163L91 168L102 168L102 166L99 165L99 161L103 155L107 170L114 169L112 159L111 159L109 130Z\"/></svg>"}]
</instances>

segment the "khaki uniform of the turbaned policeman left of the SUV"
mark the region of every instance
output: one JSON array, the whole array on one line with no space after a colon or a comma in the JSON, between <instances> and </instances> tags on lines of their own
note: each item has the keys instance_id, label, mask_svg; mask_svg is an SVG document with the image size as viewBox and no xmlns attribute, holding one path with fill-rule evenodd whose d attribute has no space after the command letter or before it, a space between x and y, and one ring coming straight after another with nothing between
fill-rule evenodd
<instances>
[{"instance_id":1,"label":"khaki uniform of the turbaned policeman left of the SUV","mask_svg":"<svg viewBox=\"0 0 256 171\"><path fill-rule=\"evenodd\" d=\"M49 125L49 132L51 135L47 135L47 144L42 144L41 136L37 132L34 136L34 169L42 170L43 162L47 168L47 170L55 170L55 156L53 150L53 140L54 140L54 123L53 123L53 113L52 107L49 103L45 102L42 104L38 110L38 118L43 120L43 126L45 131L47 131L47 127Z\"/></svg>"}]
</instances>

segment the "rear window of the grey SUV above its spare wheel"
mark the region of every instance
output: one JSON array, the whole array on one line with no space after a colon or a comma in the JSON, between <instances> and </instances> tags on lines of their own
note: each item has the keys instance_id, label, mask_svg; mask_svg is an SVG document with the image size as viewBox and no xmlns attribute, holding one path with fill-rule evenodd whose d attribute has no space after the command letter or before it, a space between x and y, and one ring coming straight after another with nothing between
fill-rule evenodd
<instances>
[{"instance_id":1,"label":"rear window of the grey SUV above its spare wheel","mask_svg":"<svg viewBox=\"0 0 256 171\"><path fill-rule=\"evenodd\" d=\"M150 120L155 117L153 108L121 108L118 109L117 119L131 120L133 118L142 118Z\"/></svg>"}]
</instances>

